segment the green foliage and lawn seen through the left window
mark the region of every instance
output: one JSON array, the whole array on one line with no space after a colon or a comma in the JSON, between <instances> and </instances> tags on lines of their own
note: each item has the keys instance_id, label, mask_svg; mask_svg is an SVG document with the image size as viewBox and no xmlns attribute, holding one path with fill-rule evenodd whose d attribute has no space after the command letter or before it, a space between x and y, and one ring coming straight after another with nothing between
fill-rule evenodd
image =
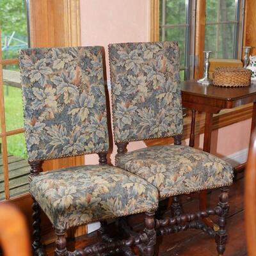
<instances>
[{"instance_id":1,"label":"green foliage and lawn seen through the left window","mask_svg":"<svg viewBox=\"0 0 256 256\"><path fill-rule=\"evenodd\" d=\"M15 59L20 48L28 47L28 30L24 0L0 0L2 58ZM4 69L19 71L19 65L5 65ZM21 89L4 84L5 122L8 131L23 124ZM24 134L7 137L8 154L26 158Z\"/></svg>"}]
</instances>

